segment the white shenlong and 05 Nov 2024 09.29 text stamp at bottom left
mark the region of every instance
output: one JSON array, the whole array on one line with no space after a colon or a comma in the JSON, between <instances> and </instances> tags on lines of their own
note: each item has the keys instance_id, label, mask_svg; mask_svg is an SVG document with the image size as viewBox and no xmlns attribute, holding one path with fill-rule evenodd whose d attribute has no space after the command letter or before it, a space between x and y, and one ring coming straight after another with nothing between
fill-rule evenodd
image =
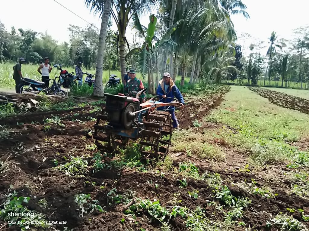
<instances>
[{"instance_id":1,"label":"white shenlong and 05 Nov 2024 09.29 text stamp at bottom left","mask_svg":"<svg viewBox=\"0 0 309 231\"><path fill-rule=\"evenodd\" d=\"M35 213L13 213L13 212L9 212L8 213L8 217L34 217ZM16 220L8 220L7 223L10 225L56 225L56 224L66 224L66 221L45 221L45 220L21 220L21 221L16 221Z\"/></svg>"}]
</instances>

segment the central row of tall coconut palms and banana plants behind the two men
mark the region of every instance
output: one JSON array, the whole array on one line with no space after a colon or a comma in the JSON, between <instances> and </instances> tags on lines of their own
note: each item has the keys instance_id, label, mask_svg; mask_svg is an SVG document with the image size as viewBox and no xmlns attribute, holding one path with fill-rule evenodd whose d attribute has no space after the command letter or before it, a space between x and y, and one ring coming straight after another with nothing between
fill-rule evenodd
<instances>
[{"instance_id":1,"label":"central row of tall coconut palms and banana plants behind the two men","mask_svg":"<svg viewBox=\"0 0 309 231\"><path fill-rule=\"evenodd\" d=\"M102 18L95 95L103 94L99 78L108 18L112 18L118 29L116 43L122 81L129 62L131 67L148 76L149 93L155 92L159 77L165 71L169 71L173 79L181 75L181 86L185 77L190 77L190 84L220 83L239 72L241 52L236 53L237 36L231 15L242 14L249 18L241 0L85 0L85 5ZM141 16L154 9L158 9L157 14L150 15L148 25L142 25ZM144 40L139 46L129 46L126 40L129 26Z\"/></svg>"}]
</instances>

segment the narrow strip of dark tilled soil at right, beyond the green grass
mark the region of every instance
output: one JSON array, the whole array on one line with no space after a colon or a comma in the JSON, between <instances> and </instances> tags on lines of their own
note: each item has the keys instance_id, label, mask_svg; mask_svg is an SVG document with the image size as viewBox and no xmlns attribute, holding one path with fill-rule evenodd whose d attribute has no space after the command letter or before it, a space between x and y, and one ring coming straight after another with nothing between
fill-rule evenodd
<instances>
[{"instance_id":1,"label":"narrow strip of dark tilled soil at right, beyond the green grass","mask_svg":"<svg viewBox=\"0 0 309 231\"><path fill-rule=\"evenodd\" d=\"M251 91L256 92L258 95L267 98L269 102L276 104L277 106L294 109L296 111L309 114L309 100L307 99L260 87L248 88Z\"/></svg>"}]
</instances>

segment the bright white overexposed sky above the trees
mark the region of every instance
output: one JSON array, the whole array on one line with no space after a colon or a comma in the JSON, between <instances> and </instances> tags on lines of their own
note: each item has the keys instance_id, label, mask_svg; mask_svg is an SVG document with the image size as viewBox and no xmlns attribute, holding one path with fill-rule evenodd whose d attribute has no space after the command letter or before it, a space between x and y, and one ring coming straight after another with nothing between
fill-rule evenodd
<instances>
[{"instance_id":1,"label":"bright white overexposed sky above the trees","mask_svg":"<svg viewBox=\"0 0 309 231\"><path fill-rule=\"evenodd\" d=\"M100 28L99 15L90 12L85 6L84 0L2 0L0 20L4 23L6 30L15 26L16 30L23 28L42 33L47 31L58 42L69 41L70 32L67 28L70 24L83 28L88 23L60 6L56 1ZM266 46L269 46L267 41L273 30L277 32L278 39L291 39L292 29L307 25L307 9L309 7L307 0L294 0L286 4L282 0L242 0L242 2L247 6L250 19L246 20L242 15L232 15L231 18L238 43L241 46L244 45L244 55L249 53L248 46L251 43L257 43L258 40L265 41L265 48L261 49L261 53L266 55ZM141 18L142 25L147 26L148 22L149 16ZM114 23L112 29L117 30ZM252 38L242 36L244 33L250 34ZM126 37L129 42L133 41L133 34L135 32L128 28Z\"/></svg>"}]
</instances>

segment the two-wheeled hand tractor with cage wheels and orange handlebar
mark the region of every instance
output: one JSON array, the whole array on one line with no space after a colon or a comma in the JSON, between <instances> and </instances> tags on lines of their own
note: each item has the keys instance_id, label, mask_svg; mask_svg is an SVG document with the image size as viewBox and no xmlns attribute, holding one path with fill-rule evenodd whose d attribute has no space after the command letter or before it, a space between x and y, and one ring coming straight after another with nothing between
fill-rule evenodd
<instances>
[{"instance_id":1,"label":"two-wheeled hand tractor with cage wheels and orange handlebar","mask_svg":"<svg viewBox=\"0 0 309 231\"><path fill-rule=\"evenodd\" d=\"M179 107L178 102L162 103L151 98L141 103L139 91L136 98L129 95L104 94L106 106L97 116L92 133L98 149L112 152L117 146L123 147L129 139L140 139L142 159L163 160L171 144L172 120L168 106ZM158 107L167 109L157 110ZM100 125L101 120L105 121ZM107 122L107 123L106 123Z\"/></svg>"}]
</instances>

